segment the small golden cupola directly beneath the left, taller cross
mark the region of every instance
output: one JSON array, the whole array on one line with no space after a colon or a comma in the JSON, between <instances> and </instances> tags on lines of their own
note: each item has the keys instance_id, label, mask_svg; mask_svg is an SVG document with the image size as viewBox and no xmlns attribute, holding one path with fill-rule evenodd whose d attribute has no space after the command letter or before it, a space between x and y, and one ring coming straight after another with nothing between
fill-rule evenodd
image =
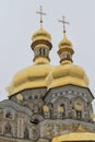
<instances>
[{"instance_id":1,"label":"small golden cupola directly beneath the left, taller cross","mask_svg":"<svg viewBox=\"0 0 95 142\"><path fill-rule=\"evenodd\" d=\"M32 36L33 42L40 40L40 39L45 39L45 40L48 40L48 42L51 40L50 34L47 31L45 31L43 27L39 28L37 32L35 32Z\"/></svg>"}]
</instances>

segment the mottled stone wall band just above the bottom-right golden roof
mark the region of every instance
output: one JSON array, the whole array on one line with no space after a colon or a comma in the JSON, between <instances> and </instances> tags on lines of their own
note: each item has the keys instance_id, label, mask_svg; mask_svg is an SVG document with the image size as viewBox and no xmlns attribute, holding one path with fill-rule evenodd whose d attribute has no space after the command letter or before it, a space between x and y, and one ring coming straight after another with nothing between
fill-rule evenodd
<instances>
[{"instance_id":1,"label":"mottled stone wall band just above the bottom-right golden roof","mask_svg":"<svg viewBox=\"0 0 95 142\"><path fill-rule=\"evenodd\" d=\"M60 134L64 134L68 132L83 132L83 131L88 131L88 132L95 132L95 127L93 128L92 126L90 126L90 128L85 125L81 125L79 122L75 123L74 122L66 122L62 123L60 122L46 122L46 123L41 123L40 127L40 138L47 138L47 139L51 139L52 137L56 135L60 135Z\"/></svg>"}]
</instances>

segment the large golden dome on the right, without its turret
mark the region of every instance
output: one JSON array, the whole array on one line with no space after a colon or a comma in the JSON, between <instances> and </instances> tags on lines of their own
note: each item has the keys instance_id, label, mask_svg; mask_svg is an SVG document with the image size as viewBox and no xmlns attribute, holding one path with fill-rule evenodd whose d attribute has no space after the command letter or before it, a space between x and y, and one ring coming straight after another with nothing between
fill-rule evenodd
<instances>
[{"instance_id":1,"label":"large golden dome on the right, without its turret","mask_svg":"<svg viewBox=\"0 0 95 142\"><path fill-rule=\"evenodd\" d=\"M81 67L78 67L72 63L55 67L52 69L51 75L52 81L48 83L49 88L68 84L84 87L88 86L88 79L87 75L85 74L85 71Z\"/></svg>"}]
</instances>

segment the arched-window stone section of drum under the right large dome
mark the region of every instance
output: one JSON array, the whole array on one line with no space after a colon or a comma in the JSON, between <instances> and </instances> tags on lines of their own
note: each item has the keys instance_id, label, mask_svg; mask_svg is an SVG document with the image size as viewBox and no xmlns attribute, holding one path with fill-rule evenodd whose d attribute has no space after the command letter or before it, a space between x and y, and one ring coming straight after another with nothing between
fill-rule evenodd
<instances>
[{"instance_id":1,"label":"arched-window stone section of drum under the right large dome","mask_svg":"<svg viewBox=\"0 0 95 142\"><path fill-rule=\"evenodd\" d=\"M67 97L60 97L54 102L44 106L45 118L84 118L84 104L79 99L74 100Z\"/></svg>"}]
</instances>

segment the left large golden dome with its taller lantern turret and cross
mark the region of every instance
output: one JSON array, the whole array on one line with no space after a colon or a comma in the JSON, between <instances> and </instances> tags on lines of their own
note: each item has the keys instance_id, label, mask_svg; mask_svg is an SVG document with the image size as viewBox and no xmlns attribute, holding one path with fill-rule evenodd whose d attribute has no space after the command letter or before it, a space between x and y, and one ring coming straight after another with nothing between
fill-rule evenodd
<instances>
[{"instance_id":1,"label":"left large golden dome with its taller lantern turret and cross","mask_svg":"<svg viewBox=\"0 0 95 142\"><path fill-rule=\"evenodd\" d=\"M28 88L47 87L47 76L52 70L49 64L49 51L52 47L51 36L43 27L41 10L37 12L40 14L40 27L32 36L32 49L34 51L34 64L19 71L12 79L11 84L7 87L9 97L14 94Z\"/></svg>"}]
</instances>

